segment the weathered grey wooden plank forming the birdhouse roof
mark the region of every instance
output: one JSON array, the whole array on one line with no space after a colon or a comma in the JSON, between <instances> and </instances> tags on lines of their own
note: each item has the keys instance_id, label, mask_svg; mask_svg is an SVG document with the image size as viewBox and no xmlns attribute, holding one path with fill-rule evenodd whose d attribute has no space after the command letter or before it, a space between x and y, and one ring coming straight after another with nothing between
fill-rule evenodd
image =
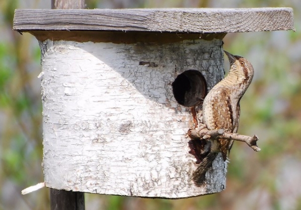
<instances>
[{"instance_id":1,"label":"weathered grey wooden plank forming the birdhouse roof","mask_svg":"<svg viewBox=\"0 0 301 210\"><path fill-rule=\"evenodd\" d=\"M248 32L293 29L288 7L16 9L15 30Z\"/></svg>"}]
</instances>

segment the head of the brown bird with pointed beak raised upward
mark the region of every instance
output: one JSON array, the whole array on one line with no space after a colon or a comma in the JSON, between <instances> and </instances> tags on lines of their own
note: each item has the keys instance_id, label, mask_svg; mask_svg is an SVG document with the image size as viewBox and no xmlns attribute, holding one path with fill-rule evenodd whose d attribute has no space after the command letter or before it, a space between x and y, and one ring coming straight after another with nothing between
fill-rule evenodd
<instances>
[{"instance_id":1,"label":"head of the brown bird with pointed beak raised upward","mask_svg":"<svg viewBox=\"0 0 301 210\"><path fill-rule=\"evenodd\" d=\"M233 55L225 50L224 52L228 56L230 62L229 74L234 74L239 81L244 81L249 84L254 75L252 64L244 57Z\"/></svg>"}]
</instances>

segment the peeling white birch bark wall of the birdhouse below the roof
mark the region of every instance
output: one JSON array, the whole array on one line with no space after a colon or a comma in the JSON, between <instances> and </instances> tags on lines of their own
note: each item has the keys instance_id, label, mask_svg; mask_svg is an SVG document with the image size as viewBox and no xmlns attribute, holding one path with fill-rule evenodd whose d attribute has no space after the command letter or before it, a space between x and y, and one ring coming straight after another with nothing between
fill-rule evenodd
<instances>
[{"instance_id":1,"label":"peeling white birch bark wall of the birdhouse below the roof","mask_svg":"<svg viewBox=\"0 0 301 210\"><path fill-rule=\"evenodd\" d=\"M220 155L204 186L191 180L192 115L171 85L188 69L200 70L210 88L223 78L222 40L40 46L46 186L167 198L225 188Z\"/></svg>"}]
</instances>

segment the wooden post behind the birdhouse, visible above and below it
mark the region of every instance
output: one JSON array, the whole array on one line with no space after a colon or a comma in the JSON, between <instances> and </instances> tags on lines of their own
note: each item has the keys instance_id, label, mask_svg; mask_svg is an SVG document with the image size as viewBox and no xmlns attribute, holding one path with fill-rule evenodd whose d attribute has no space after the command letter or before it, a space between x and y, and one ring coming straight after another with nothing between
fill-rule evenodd
<instances>
[{"instance_id":1,"label":"wooden post behind the birdhouse, visible above and below it","mask_svg":"<svg viewBox=\"0 0 301 210\"><path fill-rule=\"evenodd\" d=\"M83 9L85 0L51 0L52 9ZM50 189L50 209L85 210L85 194Z\"/></svg>"}]
</instances>

